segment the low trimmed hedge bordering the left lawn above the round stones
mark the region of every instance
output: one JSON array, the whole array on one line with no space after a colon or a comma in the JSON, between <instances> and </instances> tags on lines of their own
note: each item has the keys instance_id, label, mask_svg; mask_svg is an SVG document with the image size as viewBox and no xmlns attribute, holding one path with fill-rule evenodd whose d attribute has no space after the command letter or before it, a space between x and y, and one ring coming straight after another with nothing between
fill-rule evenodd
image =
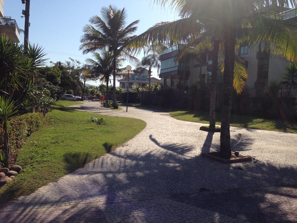
<instances>
[{"instance_id":1,"label":"low trimmed hedge bordering the left lawn above the round stones","mask_svg":"<svg viewBox=\"0 0 297 223\"><path fill-rule=\"evenodd\" d=\"M28 113L15 117L10 120L9 126L9 147L14 152L17 148L22 147L27 136L37 131L43 124L44 117L42 113ZM3 128L0 126L0 149L4 147Z\"/></svg>"}]
</instances>

